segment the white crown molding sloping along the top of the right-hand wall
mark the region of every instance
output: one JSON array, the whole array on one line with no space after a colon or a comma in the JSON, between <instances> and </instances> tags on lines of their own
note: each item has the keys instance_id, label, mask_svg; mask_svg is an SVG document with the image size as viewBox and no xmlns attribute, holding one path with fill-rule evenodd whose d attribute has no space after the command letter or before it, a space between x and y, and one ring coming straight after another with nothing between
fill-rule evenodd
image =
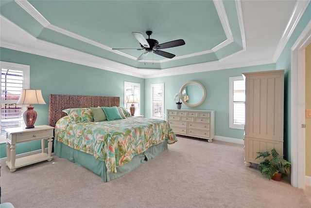
<instances>
[{"instance_id":1,"label":"white crown molding sloping along the top of the right-hand wall","mask_svg":"<svg viewBox=\"0 0 311 208\"><path fill-rule=\"evenodd\" d=\"M280 56L282 53L286 43L288 42L289 38L291 38L298 22L300 21L302 15L304 14L305 10L307 9L309 5L310 0L297 0L292 16L290 20L288 21L286 28L283 32L283 35L278 42L278 45L276 47L276 51L273 55L273 60L276 62L277 58Z\"/></svg>"}]
</instances>

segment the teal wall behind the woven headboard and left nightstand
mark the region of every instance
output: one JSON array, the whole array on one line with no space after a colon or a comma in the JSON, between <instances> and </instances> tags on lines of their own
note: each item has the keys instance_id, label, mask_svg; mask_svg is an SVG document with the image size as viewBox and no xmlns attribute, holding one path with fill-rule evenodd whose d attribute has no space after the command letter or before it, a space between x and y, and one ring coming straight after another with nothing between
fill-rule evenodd
<instances>
[{"instance_id":1,"label":"teal wall behind the woven headboard and left nightstand","mask_svg":"<svg viewBox=\"0 0 311 208\"><path fill-rule=\"evenodd\" d=\"M141 100L145 99L145 80L102 69L87 67L48 57L0 48L0 60L30 66L30 87L42 90L46 105L34 105L37 112L35 125L48 124L49 95L103 95L120 96L124 103L124 81L140 83ZM141 102L141 114L144 114ZM40 141L17 145L17 154L41 149ZM6 157L5 144L0 144L0 158Z\"/></svg>"}]
</instances>

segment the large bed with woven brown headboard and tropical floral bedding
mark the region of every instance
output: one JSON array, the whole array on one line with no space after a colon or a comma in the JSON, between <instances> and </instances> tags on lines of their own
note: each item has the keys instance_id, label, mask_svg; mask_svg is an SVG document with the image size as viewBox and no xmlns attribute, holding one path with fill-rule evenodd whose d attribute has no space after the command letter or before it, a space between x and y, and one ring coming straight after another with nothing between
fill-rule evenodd
<instances>
[{"instance_id":1,"label":"large bed with woven brown headboard and tropical floral bedding","mask_svg":"<svg viewBox=\"0 0 311 208\"><path fill-rule=\"evenodd\" d=\"M66 110L86 108L92 114L100 106L106 107L103 110L107 114L106 110L115 110L119 105L120 97L114 96L50 95L49 125L55 127L55 155L108 182L135 170L177 141L170 125L160 119L122 115L122 119L111 121L81 121L81 117L74 120L79 113ZM89 111L90 107L94 107L93 111Z\"/></svg>"}]
</instances>

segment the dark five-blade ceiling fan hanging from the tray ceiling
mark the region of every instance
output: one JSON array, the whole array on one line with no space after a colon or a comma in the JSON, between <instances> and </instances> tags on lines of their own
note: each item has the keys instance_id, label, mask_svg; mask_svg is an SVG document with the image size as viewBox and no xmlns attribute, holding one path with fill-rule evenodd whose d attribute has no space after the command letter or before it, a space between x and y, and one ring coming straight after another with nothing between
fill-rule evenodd
<instances>
[{"instance_id":1,"label":"dark five-blade ceiling fan hanging from the tray ceiling","mask_svg":"<svg viewBox=\"0 0 311 208\"><path fill-rule=\"evenodd\" d=\"M185 45L185 41L183 39L178 39L178 40L173 40L170 42L165 42L159 44L159 42L155 39L151 39L150 35L152 34L152 31L146 31L146 34L148 36L148 39L146 39L141 33L137 32L132 32L134 37L138 40L140 43L141 48L113 48L112 50L144 50L145 52L142 53L137 60L142 60L144 57L148 54L153 52L156 55L162 56L162 57L167 57L167 58L173 58L175 57L174 54L165 52L165 51L160 51L159 49L165 49L165 48L173 48L176 46L181 46Z\"/></svg>"}]
</instances>

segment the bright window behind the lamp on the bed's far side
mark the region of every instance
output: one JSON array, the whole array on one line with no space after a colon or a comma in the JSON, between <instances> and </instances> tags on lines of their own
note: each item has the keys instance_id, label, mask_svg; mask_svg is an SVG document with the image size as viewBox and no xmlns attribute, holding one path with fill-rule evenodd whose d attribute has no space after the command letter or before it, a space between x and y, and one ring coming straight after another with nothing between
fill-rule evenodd
<instances>
[{"instance_id":1,"label":"bright window behind the lamp on the bed's far side","mask_svg":"<svg viewBox=\"0 0 311 208\"><path fill-rule=\"evenodd\" d=\"M137 97L138 103L135 105L135 115L140 115L140 84L134 82L124 82L124 107L130 111L132 103L127 103L130 95L135 95Z\"/></svg>"}]
</instances>

